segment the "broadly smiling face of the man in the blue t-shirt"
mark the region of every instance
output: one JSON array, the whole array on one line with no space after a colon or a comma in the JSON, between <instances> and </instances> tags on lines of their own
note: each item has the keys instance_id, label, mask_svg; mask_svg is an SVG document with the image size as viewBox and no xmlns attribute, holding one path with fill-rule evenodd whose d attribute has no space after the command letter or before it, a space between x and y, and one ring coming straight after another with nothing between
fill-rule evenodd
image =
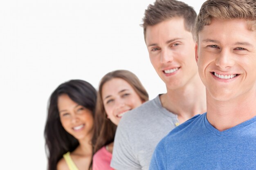
<instances>
[{"instance_id":1,"label":"broadly smiling face of the man in the blue t-shirt","mask_svg":"<svg viewBox=\"0 0 256 170\"><path fill-rule=\"evenodd\" d=\"M208 97L228 101L255 93L256 33L246 20L213 19L198 34L195 53Z\"/></svg>"}]
</instances>

